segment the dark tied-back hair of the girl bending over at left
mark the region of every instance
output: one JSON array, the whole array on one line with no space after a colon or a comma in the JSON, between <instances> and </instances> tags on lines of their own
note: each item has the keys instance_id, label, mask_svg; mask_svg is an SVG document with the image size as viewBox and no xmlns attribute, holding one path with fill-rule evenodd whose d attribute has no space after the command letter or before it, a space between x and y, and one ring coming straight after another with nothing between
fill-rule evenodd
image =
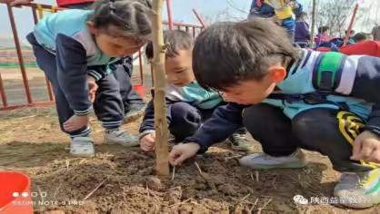
<instances>
[{"instance_id":1,"label":"dark tied-back hair of the girl bending over at left","mask_svg":"<svg viewBox=\"0 0 380 214\"><path fill-rule=\"evenodd\" d=\"M90 20L96 28L108 30L114 25L124 36L147 41L152 33L150 0L98 0Z\"/></svg>"}]
</instances>

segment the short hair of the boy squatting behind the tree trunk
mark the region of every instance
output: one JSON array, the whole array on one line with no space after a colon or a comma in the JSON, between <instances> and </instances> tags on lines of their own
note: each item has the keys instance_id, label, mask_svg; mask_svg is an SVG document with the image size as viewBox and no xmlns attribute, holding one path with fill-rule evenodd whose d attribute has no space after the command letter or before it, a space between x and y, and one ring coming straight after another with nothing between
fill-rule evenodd
<instances>
[{"instance_id":1,"label":"short hair of the boy squatting behind the tree trunk","mask_svg":"<svg viewBox=\"0 0 380 214\"><path fill-rule=\"evenodd\" d=\"M193 48L194 41L190 34L182 30L173 30L164 32L164 44L167 44L165 57L173 58L178 55L180 50L190 50ZM148 59L154 57L153 43L146 44L145 55Z\"/></svg>"}]
</instances>

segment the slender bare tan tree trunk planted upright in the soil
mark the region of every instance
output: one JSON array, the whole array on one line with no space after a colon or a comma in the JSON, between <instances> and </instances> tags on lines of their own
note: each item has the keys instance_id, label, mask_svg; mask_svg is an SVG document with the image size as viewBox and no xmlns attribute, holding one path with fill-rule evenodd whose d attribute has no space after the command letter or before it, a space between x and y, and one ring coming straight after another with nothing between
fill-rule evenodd
<instances>
[{"instance_id":1,"label":"slender bare tan tree trunk planted upright in the soil","mask_svg":"<svg viewBox=\"0 0 380 214\"><path fill-rule=\"evenodd\" d=\"M155 78L155 170L157 176L168 176L169 151L167 148L167 122L165 107L165 45L162 25L163 0L153 1L152 27L155 58L153 70Z\"/></svg>"}]
</instances>

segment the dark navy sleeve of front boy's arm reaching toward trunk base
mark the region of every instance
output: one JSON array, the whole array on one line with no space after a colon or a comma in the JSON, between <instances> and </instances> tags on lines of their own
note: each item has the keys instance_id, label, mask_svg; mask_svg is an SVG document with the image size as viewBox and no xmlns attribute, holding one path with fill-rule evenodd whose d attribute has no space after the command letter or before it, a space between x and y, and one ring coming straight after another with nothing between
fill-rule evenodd
<instances>
[{"instance_id":1,"label":"dark navy sleeve of front boy's arm reaching toward trunk base","mask_svg":"<svg viewBox=\"0 0 380 214\"><path fill-rule=\"evenodd\" d=\"M213 116L195 132L195 135L185 139L185 142L199 144L198 153L207 151L208 147L220 141L224 141L234 131L243 127L242 112L246 106L228 103L215 109Z\"/></svg>"}]
</instances>

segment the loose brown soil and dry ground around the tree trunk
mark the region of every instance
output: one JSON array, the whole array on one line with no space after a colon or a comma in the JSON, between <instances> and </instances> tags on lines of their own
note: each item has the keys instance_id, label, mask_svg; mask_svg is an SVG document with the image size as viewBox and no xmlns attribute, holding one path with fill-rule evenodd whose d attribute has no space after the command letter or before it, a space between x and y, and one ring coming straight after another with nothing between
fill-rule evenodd
<instances>
[{"instance_id":1,"label":"loose brown soil and dry ground around the tree trunk","mask_svg":"<svg viewBox=\"0 0 380 214\"><path fill-rule=\"evenodd\" d=\"M297 194L330 197L339 176L314 152L306 152L305 169L255 171L238 165L245 153L221 143L177 167L174 180L158 179L154 153L104 145L99 123L92 123L96 156L81 159L69 155L54 109L0 112L0 168L30 176L36 213L380 213L380 206L296 205ZM136 133L138 124L123 129Z\"/></svg>"}]
</instances>

